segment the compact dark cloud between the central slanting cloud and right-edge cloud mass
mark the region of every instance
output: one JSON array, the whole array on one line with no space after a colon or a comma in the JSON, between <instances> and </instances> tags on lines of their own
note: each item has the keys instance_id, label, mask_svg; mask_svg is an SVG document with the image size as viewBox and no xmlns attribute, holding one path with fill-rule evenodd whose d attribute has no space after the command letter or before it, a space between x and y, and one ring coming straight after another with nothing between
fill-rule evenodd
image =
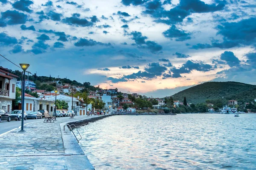
<instances>
[{"instance_id":1,"label":"compact dark cloud between the central slanting cloud and right-edge cloud mass","mask_svg":"<svg viewBox=\"0 0 256 170\"><path fill-rule=\"evenodd\" d=\"M184 41L191 39L189 33L186 33L182 29L177 29L175 25L172 25L172 27L163 32L163 36L170 39L175 38L176 41Z\"/></svg>"}]
</instances>

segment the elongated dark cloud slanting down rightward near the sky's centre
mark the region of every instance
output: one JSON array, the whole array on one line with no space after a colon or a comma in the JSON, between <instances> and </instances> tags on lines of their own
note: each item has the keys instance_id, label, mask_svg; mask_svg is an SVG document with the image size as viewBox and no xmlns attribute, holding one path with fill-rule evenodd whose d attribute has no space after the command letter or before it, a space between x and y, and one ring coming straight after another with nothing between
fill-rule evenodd
<instances>
[{"instance_id":1,"label":"elongated dark cloud slanting down rightward near the sky's centre","mask_svg":"<svg viewBox=\"0 0 256 170\"><path fill-rule=\"evenodd\" d=\"M138 45L139 48L149 49L151 52L159 52L163 47L154 41L145 41L148 37L143 36L141 32L133 31L129 35L132 36L132 40Z\"/></svg>"}]
</instances>

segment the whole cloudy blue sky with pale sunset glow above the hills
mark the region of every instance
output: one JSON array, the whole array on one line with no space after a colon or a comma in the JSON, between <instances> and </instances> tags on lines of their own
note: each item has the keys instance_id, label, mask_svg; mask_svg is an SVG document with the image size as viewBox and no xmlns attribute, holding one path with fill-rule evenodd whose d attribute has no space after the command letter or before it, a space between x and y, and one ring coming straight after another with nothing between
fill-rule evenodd
<instances>
[{"instance_id":1,"label":"whole cloudy blue sky with pale sunset glow above the hills","mask_svg":"<svg viewBox=\"0 0 256 170\"><path fill-rule=\"evenodd\" d=\"M0 0L0 54L37 75L153 97L256 84L256 1Z\"/></svg>"}]
</instances>

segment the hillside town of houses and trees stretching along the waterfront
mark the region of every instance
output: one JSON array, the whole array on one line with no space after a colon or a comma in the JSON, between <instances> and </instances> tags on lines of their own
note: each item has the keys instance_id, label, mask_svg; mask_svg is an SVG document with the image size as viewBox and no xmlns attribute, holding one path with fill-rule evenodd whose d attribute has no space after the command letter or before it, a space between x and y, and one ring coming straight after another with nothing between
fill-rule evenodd
<instances>
[{"instance_id":1,"label":"hillside town of houses and trees stretching along the waterfront","mask_svg":"<svg viewBox=\"0 0 256 170\"><path fill-rule=\"evenodd\" d=\"M44 78L44 79L43 79ZM70 83L67 83L70 82ZM21 72L0 67L0 109L12 112L21 109ZM80 85L80 86L79 86ZM76 115L88 115L94 112L137 112L137 113L192 113L222 112L224 108L236 108L239 112L256 112L253 102L239 104L230 100L227 103L207 100L205 103L187 103L174 100L172 96L152 98L138 93L120 92L117 88L102 89L69 79L26 75L25 79L25 111L47 110L53 113L55 98L57 110L73 110ZM55 93L54 90L58 92ZM256 101L256 99L255 99Z\"/></svg>"}]
</instances>

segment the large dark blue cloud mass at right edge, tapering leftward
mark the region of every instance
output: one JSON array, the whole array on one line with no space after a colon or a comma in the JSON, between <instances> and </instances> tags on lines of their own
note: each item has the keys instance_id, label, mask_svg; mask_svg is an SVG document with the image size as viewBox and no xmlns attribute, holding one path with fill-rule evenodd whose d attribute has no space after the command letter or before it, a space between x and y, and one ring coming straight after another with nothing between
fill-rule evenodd
<instances>
[{"instance_id":1,"label":"large dark blue cloud mass at right edge, tapering leftward","mask_svg":"<svg viewBox=\"0 0 256 170\"><path fill-rule=\"evenodd\" d=\"M240 20L239 22L225 22L217 26L217 35L223 36L223 42L212 40L211 44L198 43L193 45L191 49L206 49L206 48L232 48L241 45L251 45L256 43L256 18Z\"/></svg>"}]
</instances>

